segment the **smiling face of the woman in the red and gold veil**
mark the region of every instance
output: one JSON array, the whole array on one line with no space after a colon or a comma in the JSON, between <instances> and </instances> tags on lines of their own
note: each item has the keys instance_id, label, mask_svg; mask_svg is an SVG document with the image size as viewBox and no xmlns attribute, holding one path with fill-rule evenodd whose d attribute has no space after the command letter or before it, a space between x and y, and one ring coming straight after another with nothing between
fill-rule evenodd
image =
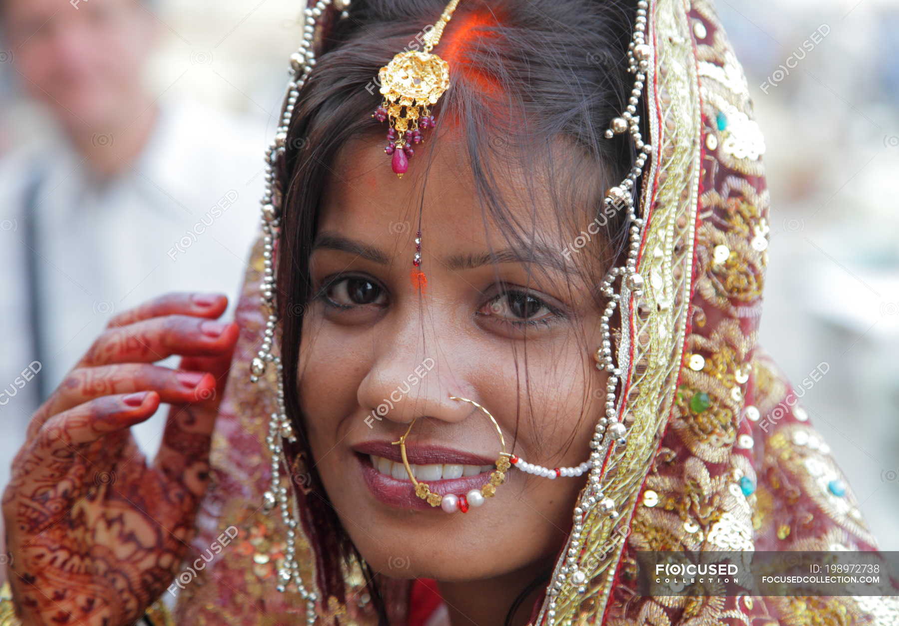
<instances>
[{"instance_id":1,"label":"smiling face of the woman in the red and gold veil","mask_svg":"<svg viewBox=\"0 0 899 626\"><path fill-rule=\"evenodd\" d=\"M509 452L575 466L589 457L606 375L592 360L601 313L579 265L587 254L562 253L579 230L559 233L547 185L534 181L527 201L510 173L503 198L530 233L510 245L482 216L464 150L441 142L426 180L423 156L398 180L381 141L347 145L335 163L298 385L316 469L362 557L390 577L463 581L554 558L585 475L513 468L482 506L448 514L415 496L391 442L417 419L406 445L419 480L441 495L479 489L499 437L455 395L494 415ZM423 293L411 278L420 206Z\"/></svg>"}]
</instances>

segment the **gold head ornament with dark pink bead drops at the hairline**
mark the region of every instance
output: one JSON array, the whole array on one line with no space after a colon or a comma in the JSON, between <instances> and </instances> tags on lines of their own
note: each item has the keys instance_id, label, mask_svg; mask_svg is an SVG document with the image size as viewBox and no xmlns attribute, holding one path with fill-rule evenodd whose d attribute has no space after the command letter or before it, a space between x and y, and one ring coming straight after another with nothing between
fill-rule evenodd
<instances>
[{"instance_id":1,"label":"gold head ornament with dark pink bead drops at the hairline","mask_svg":"<svg viewBox=\"0 0 899 626\"><path fill-rule=\"evenodd\" d=\"M388 120L387 147L391 165L398 178L409 169L409 159L415 154L414 144L423 140L422 130L434 128L430 107L437 103L449 87L449 64L431 54L456 10L458 0L450 0L440 19L423 36L422 50L398 53L378 72L381 105L371 114L379 122Z\"/></svg>"}]
</instances>

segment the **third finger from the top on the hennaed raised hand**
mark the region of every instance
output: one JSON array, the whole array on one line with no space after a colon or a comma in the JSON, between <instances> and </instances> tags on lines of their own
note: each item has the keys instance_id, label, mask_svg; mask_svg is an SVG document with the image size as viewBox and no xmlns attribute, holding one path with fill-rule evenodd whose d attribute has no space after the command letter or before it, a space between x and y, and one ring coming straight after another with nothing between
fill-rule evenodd
<instances>
[{"instance_id":1,"label":"third finger from the top on the hennaed raised hand","mask_svg":"<svg viewBox=\"0 0 899 626\"><path fill-rule=\"evenodd\" d=\"M163 402L186 404L208 400L215 390L216 378L208 372L142 363L78 367L67 375L46 407L41 407L32 426L40 428L50 416L106 395L155 391Z\"/></svg>"}]
</instances>

